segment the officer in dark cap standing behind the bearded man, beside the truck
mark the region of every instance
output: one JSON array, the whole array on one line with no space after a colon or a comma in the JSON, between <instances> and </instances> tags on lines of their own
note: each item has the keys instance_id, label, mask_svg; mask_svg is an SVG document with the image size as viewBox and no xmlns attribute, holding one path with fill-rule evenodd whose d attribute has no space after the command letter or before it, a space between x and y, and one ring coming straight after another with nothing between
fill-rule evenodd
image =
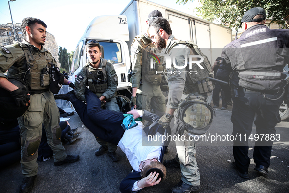
<instances>
[{"instance_id":1,"label":"officer in dark cap standing behind the bearded man, beside the truck","mask_svg":"<svg viewBox=\"0 0 289 193\"><path fill-rule=\"evenodd\" d=\"M147 24L155 18L162 17L158 10L152 11L147 19ZM151 52L155 48L147 34L137 35L131 46L131 62L132 62L132 78L133 94L131 104L139 110L154 109L155 114L162 116L165 113L165 96L163 95L158 82L153 82L143 76L144 69L148 68L149 55L145 52ZM144 66L146 65L146 66ZM161 75L159 74L161 78ZM158 79L160 79L158 78ZM158 80L159 81L159 80ZM137 94L137 96L136 96Z\"/></svg>"}]
</instances>

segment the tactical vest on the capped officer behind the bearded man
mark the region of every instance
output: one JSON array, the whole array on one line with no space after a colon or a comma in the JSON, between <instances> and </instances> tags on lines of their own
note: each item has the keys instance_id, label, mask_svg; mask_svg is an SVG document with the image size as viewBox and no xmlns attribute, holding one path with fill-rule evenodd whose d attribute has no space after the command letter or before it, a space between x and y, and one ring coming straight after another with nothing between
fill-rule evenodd
<instances>
[{"instance_id":1,"label":"tactical vest on the capped officer behind the bearded man","mask_svg":"<svg viewBox=\"0 0 289 193\"><path fill-rule=\"evenodd\" d=\"M162 73L156 72L164 71L164 57L156 56L158 49L152 44L150 39L143 35L137 36L135 39L143 49L140 64L142 65L142 76L144 76L144 80L151 84L159 84L162 81Z\"/></svg>"}]
</instances>

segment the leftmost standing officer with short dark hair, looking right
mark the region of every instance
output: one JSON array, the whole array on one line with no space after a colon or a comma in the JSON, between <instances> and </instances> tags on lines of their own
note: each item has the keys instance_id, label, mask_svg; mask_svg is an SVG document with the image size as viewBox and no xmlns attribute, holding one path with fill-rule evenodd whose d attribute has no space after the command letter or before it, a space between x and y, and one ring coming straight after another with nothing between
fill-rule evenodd
<instances>
[{"instance_id":1,"label":"leftmost standing officer with short dark hair, looking right","mask_svg":"<svg viewBox=\"0 0 289 193\"><path fill-rule=\"evenodd\" d=\"M56 67L56 61L43 46L46 41L47 25L36 18L22 20L22 31L26 34L23 42L14 41L12 45L0 47L0 87L10 91L16 104L30 106L18 118L20 127L21 168L24 179L20 185L20 193L32 190L37 176L38 147L41 141L42 124L47 134L49 146L53 150L54 165L76 162L78 155L67 155L61 144L61 128L59 126L59 111L53 93L49 90L49 67ZM31 88L30 95L18 88L4 75L8 69L8 78L19 78ZM41 79L41 75L48 78ZM68 83L68 80L64 81ZM3 110L3 109L1 109Z\"/></svg>"}]
</instances>

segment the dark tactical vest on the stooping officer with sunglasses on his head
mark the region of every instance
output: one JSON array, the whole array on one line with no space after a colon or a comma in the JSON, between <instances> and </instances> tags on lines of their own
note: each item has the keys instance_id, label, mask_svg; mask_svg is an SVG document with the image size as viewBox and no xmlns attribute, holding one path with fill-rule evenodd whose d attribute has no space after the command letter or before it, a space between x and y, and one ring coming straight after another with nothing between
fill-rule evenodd
<instances>
[{"instance_id":1,"label":"dark tactical vest on the stooping officer with sunglasses on his head","mask_svg":"<svg viewBox=\"0 0 289 193\"><path fill-rule=\"evenodd\" d=\"M86 68L88 74L88 86L94 93L103 93L108 88L107 72L105 69L106 63L107 60L103 59L101 69L94 70Z\"/></svg>"}]
</instances>

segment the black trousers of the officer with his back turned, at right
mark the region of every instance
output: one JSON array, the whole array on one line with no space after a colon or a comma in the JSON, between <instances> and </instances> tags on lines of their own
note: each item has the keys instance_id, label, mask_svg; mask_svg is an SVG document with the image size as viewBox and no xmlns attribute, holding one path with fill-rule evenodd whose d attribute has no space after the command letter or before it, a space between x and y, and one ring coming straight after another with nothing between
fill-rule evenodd
<instances>
[{"instance_id":1,"label":"black trousers of the officer with his back turned, at right","mask_svg":"<svg viewBox=\"0 0 289 193\"><path fill-rule=\"evenodd\" d=\"M280 95L281 94L266 94L266 97L276 99ZM242 136L241 139L240 137L237 137L237 140L234 141L233 154L236 165L240 171L247 172L250 165L250 158L248 157L248 140L250 139L248 138L252 132L255 113L257 114L257 117L254 124L256 125L256 134L259 136L259 139L255 140L257 138L254 138L253 140L255 141L253 153L254 162L267 168L270 166L273 140L271 140L271 138L265 138L265 135L275 135L275 126L277 123L281 122L279 107L282 104L282 101L283 97L272 101L265 99L260 92L253 91L241 91L239 92L238 98L233 98L234 105L231 116L231 121L233 123L232 135L239 136L241 134ZM262 136L263 139L260 140Z\"/></svg>"}]
</instances>

